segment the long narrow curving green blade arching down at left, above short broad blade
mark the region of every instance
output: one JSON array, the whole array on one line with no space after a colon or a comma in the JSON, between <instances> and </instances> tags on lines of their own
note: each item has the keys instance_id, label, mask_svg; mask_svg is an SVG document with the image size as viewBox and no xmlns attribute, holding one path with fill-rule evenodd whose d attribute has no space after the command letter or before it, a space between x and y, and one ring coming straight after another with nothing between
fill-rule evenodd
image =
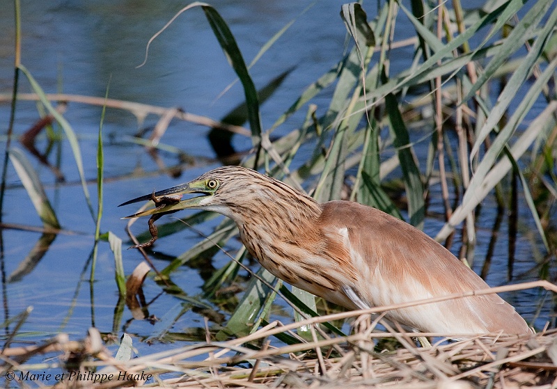
<instances>
[{"instance_id":1,"label":"long narrow curving green blade arching down at left, above short broad blade","mask_svg":"<svg viewBox=\"0 0 557 389\"><path fill-rule=\"evenodd\" d=\"M85 200L87 202L89 212L91 213L91 217L93 218L93 222L96 222L95 212L93 211L93 205L91 205L91 196L89 196L89 190L87 189L87 182L85 180L85 173L83 170L83 159L81 158L81 150L79 149L79 142L77 141L77 136L75 135L74 130L68 123L68 120L54 109L52 104L50 104L49 100L47 99L45 92L42 90L40 85L37 81L33 78L29 70L27 70L24 65L19 65L19 70L25 74L25 77L29 80L29 84L31 84L31 88L35 91L38 95L40 102L44 105L48 112L56 119L58 124L61 125L62 129L64 130L66 138L70 142L70 147L72 148L72 152L74 154L75 164L77 166L77 171L79 173L79 180L81 180L81 187L83 189L83 193L85 196Z\"/></svg>"}]
</instances>

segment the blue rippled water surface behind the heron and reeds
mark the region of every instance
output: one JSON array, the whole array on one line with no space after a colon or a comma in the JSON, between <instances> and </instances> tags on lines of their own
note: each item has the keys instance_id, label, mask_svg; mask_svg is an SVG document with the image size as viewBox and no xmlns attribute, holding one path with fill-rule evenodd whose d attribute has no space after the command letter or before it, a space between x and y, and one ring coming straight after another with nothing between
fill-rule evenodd
<instances>
[{"instance_id":1,"label":"blue rippled water surface behind the heron and reeds","mask_svg":"<svg viewBox=\"0 0 557 389\"><path fill-rule=\"evenodd\" d=\"M136 68L143 61L148 39L184 4L182 1L174 0L47 3L22 1L22 63L48 93L61 91L102 97L109 85L109 97L113 99L164 107L180 106L187 112L218 120L242 102L243 91L237 83L228 93L217 99L219 93L235 80L235 74L226 63L201 9L189 10L180 16L152 43L146 64ZM262 105L264 127L272 125L301 90L331 68L345 50L345 27L338 16L340 2L317 1L306 13L302 13L310 4L308 1L212 2L230 24L247 63L274 33L290 20L297 18L295 24L251 69L256 86L261 87L284 70L293 68L272 98ZM13 82L13 12L10 7L11 3L6 5L5 12L0 14L0 24L4 32L0 37L2 93L9 93ZM371 12L375 7L368 8ZM399 64L405 68L405 61L405 56L395 58L393 67ZM29 90L29 84L22 80L21 91ZM325 109L330 93L329 90L315 100L319 109ZM7 122L8 115L9 104L4 100L0 106L0 116L6 118L3 122ZM18 102L15 134L22 134L37 118L34 102ZM85 175L88 180L94 181L100 107L70 103L65 118L79 136ZM299 126L301 120L303 114L294 116L281 126L276 134L284 134L292 127ZM143 126L153 126L156 122L155 116L149 116ZM122 209L117 207L118 204L148 193L153 188L163 189L185 182L218 165L207 141L207 128L173 120L162 143L178 147L188 154L192 159L191 168L185 170L178 178L162 173L130 177L134 171L157 170L155 163L141 145L130 141L130 136L137 130L138 123L131 113L116 109L107 111L103 129L106 164L104 174L107 182L104 186L102 231L111 230L124 240L127 239L124 230L126 221L120 218L134 212L134 208ZM40 139L42 140L38 141L38 147L44 150L45 138L42 136ZM249 150L251 141L249 138L235 136L234 145L237 150ZM15 147L20 145L16 142ZM417 150L425 152L427 144L418 145ZM56 150L54 151L49 157L51 161L56 159ZM29 273L20 280L5 284L5 319L14 317L29 306L33 307L31 315L19 330L22 335L17 338L17 342L42 340L59 331L70 333L71 338L79 339L83 338L87 329L93 325L102 333L121 334L125 326L128 333L135 335L134 346L139 349L140 354L165 349L166 344L155 342L147 346L138 341L148 338L154 327L148 321L133 320L127 309L120 326L113 328L118 291L114 282L113 255L108 244L104 242L99 246L93 295L91 294L86 282L89 270L84 269L93 250L95 227L88 213L77 169L67 143L63 143L59 153L61 169L67 181L65 184L57 184L52 173L35 160L33 165L36 166L47 188L47 195L66 233L56 237L47 253ZM165 164L177 163L174 154L162 152L161 155ZM10 189L6 192L3 220L6 223L27 226L41 225L13 168L8 170L8 185ZM95 184L90 184L88 189L96 207ZM528 212L524 199L520 200L519 209L523 213ZM441 209L437 187L433 188L431 209ZM489 230L495 218L495 210L494 200L489 198L484 204L478 225ZM533 267L531 253L535 250L532 247L540 247L538 240L529 240L531 235L528 235L528 230L532 230L533 225L527 221L528 216L521 218L521 222L527 225L520 226L516 274L526 273ZM203 226L203 232L210 233L214 225L212 223ZM429 219L426 232L435 235L440 226L441 221ZM143 222L137 223L133 228L136 233L145 229L146 223ZM490 285L507 282L506 230L504 218L492 271L487 277ZM8 279L39 237L40 234L37 232L3 230L6 247L5 271ZM488 234L478 235L476 271L480 270L485 258L489 243L487 237ZM172 237L160 239L156 250L159 255L179 255L199 239L195 232L185 230ZM459 240L460 237L457 236L455 242ZM460 244L455 244L453 252L457 252L458 247ZM138 251L125 251L123 255L125 273L128 275L143 258ZM226 256L217 255L212 266L218 269L227 261ZM166 267L168 260L155 256L154 264L157 269L162 269ZM182 267L173 273L172 280L185 292L196 296L204 282L200 273L196 267ZM528 273L523 279L535 278L536 273ZM149 307L150 314L159 318L164 317L168 310L180 302L167 294L159 296L160 292L161 288L152 280L146 281L146 301L156 299ZM531 295L510 294L505 297L512 299L519 312L527 319L534 314L535 307L531 303ZM542 317L540 323L545 319L547 317ZM190 331L191 328L203 326L203 318L189 310L173 325L173 332ZM13 326L6 328L6 334L10 332L10 328Z\"/></svg>"}]
</instances>

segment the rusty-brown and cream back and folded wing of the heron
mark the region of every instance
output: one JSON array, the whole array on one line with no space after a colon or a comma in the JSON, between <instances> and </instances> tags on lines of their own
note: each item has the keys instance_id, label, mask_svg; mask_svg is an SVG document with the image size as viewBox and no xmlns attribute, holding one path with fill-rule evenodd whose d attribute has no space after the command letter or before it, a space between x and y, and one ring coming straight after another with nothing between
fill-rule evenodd
<instances>
[{"instance_id":1,"label":"rusty-brown and cream back and folded wing of the heron","mask_svg":"<svg viewBox=\"0 0 557 389\"><path fill-rule=\"evenodd\" d=\"M356 277L348 290L370 307L489 287L444 246L375 208L331 201L323 205L318 223L324 226L324 237L343 241L350 252L349 271ZM387 317L418 331L436 333L531 332L515 308L497 294L402 308Z\"/></svg>"}]
</instances>

